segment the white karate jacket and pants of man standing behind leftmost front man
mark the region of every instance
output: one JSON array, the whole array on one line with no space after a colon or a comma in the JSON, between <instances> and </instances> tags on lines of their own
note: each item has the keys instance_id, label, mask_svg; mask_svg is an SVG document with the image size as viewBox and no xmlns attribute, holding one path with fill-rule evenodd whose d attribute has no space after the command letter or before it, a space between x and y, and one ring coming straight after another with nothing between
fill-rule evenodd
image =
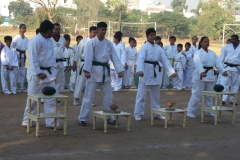
<instances>
[{"instance_id":1,"label":"white karate jacket and pants of man standing behind leftmost front man","mask_svg":"<svg viewBox=\"0 0 240 160\"><path fill-rule=\"evenodd\" d=\"M63 58L63 53L65 50L65 44L66 44L65 39L62 36L60 36L58 42L56 42L53 37L51 38L51 40L53 42L54 57L56 59ZM63 62L57 62L56 70L57 70L57 75L56 75L57 77L55 80L55 86L56 86L56 93L59 93L61 88L63 87L62 86L63 84L62 80L64 76Z\"/></svg>"}]
</instances>

